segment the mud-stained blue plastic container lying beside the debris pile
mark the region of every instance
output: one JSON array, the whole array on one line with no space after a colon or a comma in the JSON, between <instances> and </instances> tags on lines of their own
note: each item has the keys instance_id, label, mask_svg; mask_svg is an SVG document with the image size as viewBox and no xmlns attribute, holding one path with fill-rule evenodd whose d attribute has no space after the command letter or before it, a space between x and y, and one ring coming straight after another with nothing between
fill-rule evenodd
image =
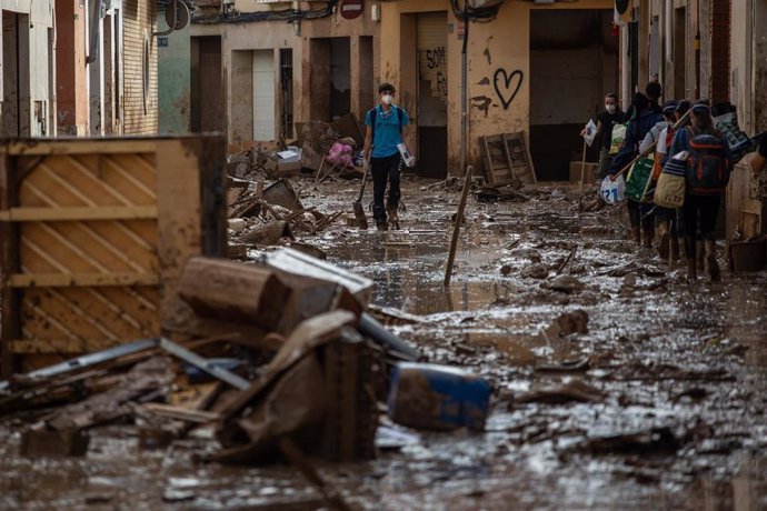
<instances>
[{"instance_id":1,"label":"mud-stained blue plastic container lying beside the debris pile","mask_svg":"<svg viewBox=\"0 0 767 511\"><path fill-rule=\"evenodd\" d=\"M490 384L469 371L428 363L395 367L389 389L389 417L398 424L426 430L485 428Z\"/></svg>"}]
</instances>

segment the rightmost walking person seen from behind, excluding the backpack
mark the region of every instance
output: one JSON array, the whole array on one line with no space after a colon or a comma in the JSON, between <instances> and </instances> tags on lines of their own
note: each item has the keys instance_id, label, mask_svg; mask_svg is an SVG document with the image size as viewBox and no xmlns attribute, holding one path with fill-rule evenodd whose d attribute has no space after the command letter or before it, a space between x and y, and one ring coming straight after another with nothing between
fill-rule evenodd
<instances>
[{"instance_id":1,"label":"rightmost walking person seen from behind, excluding the backpack","mask_svg":"<svg viewBox=\"0 0 767 511\"><path fill-rule=\"evenodd\" d=\"M723 147L719 158L725 166L726 179L720 180L719 184L714 188L696 188L690 172L705 172L707 170L705 170L706 168L703 166L700 166L699 169L691 169L691 162L688 161L687 189L685 191L685 204L683 206L687 277L689 280L697 279L698 264L696 263L696 254L700 251L703 246L703 249L705 249L705 264L708 270L708 275L713 282L716 282L720 279L720 273L719 264L716 260L716 239L714 229L716 227L717 214L719 213L721 196L727 186L726 181L729 179L729 172L733 170L733 163L727 138L714 127L711 108L708 103L705 101L695 103L693 106L691 119L690 127L678 130L674 136L669 156L674 157L681 151L690 152L690 141L698 134L714 136L720 141ZM700 241L696 240L697 236L700 237ZM698 242L696 243L696 241Z\"/></svg>"}]
</instances>

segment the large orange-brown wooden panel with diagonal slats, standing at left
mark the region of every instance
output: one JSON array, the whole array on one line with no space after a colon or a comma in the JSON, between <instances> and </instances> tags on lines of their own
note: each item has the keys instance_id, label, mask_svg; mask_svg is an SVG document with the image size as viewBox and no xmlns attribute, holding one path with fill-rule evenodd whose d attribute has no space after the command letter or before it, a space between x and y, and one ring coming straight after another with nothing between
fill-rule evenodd
<instances>
[{"instance_id":1,"label":"large orange-brown wooden panel with diagonal slats, standing at left","mask_svg":"<svg viewBox=\"0 0 767 511\"><path fill-rule=\"evenodd\" d=\"M3 377L159 335L187 259L226 254L223 161L219 137L0 147Z\"/></svg>"}]
</instances>

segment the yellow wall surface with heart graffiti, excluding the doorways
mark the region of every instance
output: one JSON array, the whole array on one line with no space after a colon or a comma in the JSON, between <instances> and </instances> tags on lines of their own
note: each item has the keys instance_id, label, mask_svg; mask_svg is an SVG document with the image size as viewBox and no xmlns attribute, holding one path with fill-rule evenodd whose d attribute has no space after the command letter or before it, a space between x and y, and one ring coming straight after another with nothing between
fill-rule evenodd
<instances>
[{"instance_id":1,"label":"yellow wall surface with heart graffiti, excluding the doorways","mask_svg":"<svg viewBox=\"0 0 767 511\"><path fill-rule=\"evenodd\" d=\"M551 9L611 9L609 0L580 0L575 3L556 3ZM479 137L514 131L529 132L530 89L529 89L529 40L530 10L549 9L534 6L531 2L507 0L491 22L472 22L469 28L468 46L468 98L469 133L468 162L481 168ZM391 81L398 87L399 102L409 112L415 113L415 91L400 87L401 54L415 56L415 43L411 50L400 49L401 14L417 12L447 11L448 26L454 24L448 33L448 170L451 174L462 174L460 160L460 62L462 41L458 39L458 21L445 0L404 0L381 4L381 43L380 66L381 80ZM410 41L408 41L410 43ZM410 44L408 44L410 46ZM407 70L405 71L407 73ZM494 79L498 77L502 100L496 92ZM506 78L509 78L509 88ZM517 90L517 82L519 89ZM516 90L516 93L514 93ZM507 108L504 106L504 100ZM489 104L487 104L489 101ZM486 109L482 109L487 104ZM417 119L416 119L417 123ZM416 130L407 133L407 142L415 143Z\"/></svg>"}]
</instances>

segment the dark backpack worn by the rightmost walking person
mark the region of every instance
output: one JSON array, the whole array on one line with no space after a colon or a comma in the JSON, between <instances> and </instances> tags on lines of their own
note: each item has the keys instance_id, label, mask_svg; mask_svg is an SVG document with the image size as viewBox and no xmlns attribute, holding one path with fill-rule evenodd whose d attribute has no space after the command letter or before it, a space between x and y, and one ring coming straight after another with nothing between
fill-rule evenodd
<instances>
[{"instance_id":1,"label":"dark backpack worn by the rightmost walking person","mask_svg":"<svg viewBox=\"0 0 767 511\"><path fill-rule=\"evenodd\" d=\"M715 196L725 191L729 182L730 163L727 146L721 136L701 133L695 127L689 131L687 158L687 190L695 196Z\"/></svg>"}]
</instances>

